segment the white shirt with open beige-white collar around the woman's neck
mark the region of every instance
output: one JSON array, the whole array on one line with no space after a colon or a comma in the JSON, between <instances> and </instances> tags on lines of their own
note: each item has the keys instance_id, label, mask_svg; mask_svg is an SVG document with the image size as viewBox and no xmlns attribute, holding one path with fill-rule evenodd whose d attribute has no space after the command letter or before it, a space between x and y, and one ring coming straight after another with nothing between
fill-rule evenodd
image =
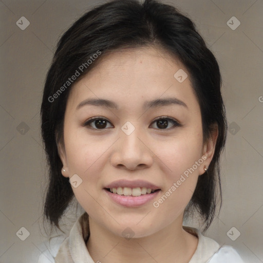
<instances>
[{"instance_id":1,"label":"white shirt with open beige-white collar around the woman's neck","mask_svg":"<svg viewBox=\"0 0 263 263\"><path fill-rule=\"evenodd\" d=\"M74 223L68 237L57 237L40 256L37 263L97 263L93 261L86 241L89 237L88 215L85 212ZM239 254L230 246L222 246L201 234L198 229L183 229L198 237L197 249L189 263L244 263Z\"/></svg>"}]
</instances>

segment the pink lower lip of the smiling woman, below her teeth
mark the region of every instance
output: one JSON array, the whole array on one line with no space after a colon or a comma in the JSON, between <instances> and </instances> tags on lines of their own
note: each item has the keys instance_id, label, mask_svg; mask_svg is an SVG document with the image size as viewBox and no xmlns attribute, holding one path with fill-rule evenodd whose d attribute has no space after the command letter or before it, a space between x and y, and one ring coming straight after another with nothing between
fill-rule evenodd
<instances>
[{"instance_id":1,"label":"pink lower lip of the smiling woman, below her teeth","mask_svg":"<svg viewBox=\"0 0 263 263\"><path fill-rule=\"evenodd\" d=\"M127 207L136 207L143 205L154 199L160 192L160 190L158 190L152 194L146 194L140 196L125 196L125 195L113 194L107 191L106 189L103 189L103 191L106 192L109 198L111 198L113 201Z\"/></svg>"}]
</instances>

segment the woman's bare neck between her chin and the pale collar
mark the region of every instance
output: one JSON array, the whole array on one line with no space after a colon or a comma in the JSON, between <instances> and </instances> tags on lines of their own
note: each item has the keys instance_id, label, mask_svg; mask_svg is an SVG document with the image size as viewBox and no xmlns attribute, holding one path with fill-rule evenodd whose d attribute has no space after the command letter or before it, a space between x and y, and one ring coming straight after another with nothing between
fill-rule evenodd
<instances>
[{"instance_id":1,"label":"woman's bare neck between her chin and the pale collar","mask_svg":"<svg viewBox=\"0 0 263 263\"><path fill-rule=\"evenodd\" d=\"M87 249L94 262L189 262L198 238L182 229L182 218L146 237L124 238L107 231L89 218Z\"/></svg>"}]
</instances>

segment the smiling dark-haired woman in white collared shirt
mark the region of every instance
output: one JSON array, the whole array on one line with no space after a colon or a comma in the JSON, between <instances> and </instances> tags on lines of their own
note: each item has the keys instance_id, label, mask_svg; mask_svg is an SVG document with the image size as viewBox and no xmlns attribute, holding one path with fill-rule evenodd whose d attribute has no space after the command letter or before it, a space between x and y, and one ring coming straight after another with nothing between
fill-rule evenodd
<instances>
[{"instance_id":1,"label":"smiling dark-haired woman in white collared shirt","mask_svg":"<svg viewBox=\"0 0 263 263\"><path fill-rule=\"evenodd\" d=\"M214 55L172 6L111 1L64 33L41 107L45 216L59 228L73 197L85 213L53 262L243 262L183 226L197 213L208 229L221 204L220 87Z\"/></svg>"}]
</instances>

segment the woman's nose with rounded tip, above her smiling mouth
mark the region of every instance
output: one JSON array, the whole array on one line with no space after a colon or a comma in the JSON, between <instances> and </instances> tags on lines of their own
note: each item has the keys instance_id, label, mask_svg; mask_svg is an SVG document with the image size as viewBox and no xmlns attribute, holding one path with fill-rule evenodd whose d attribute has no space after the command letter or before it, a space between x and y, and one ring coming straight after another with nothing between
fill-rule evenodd
<instances>
[{"instance_id":1,"label":"woman's nose with rounded tip, above her smiling mouth","mask_svg":"<svg viewBox=\"0 0 263 263\"><path fill-rule=\"evenodd\" d=\"M141 129L135 128L129 135L120 129L119 135L110 157L112 166L126 170L141 170L153 164L151 143Z\"/></svg>"}]
</instances>

